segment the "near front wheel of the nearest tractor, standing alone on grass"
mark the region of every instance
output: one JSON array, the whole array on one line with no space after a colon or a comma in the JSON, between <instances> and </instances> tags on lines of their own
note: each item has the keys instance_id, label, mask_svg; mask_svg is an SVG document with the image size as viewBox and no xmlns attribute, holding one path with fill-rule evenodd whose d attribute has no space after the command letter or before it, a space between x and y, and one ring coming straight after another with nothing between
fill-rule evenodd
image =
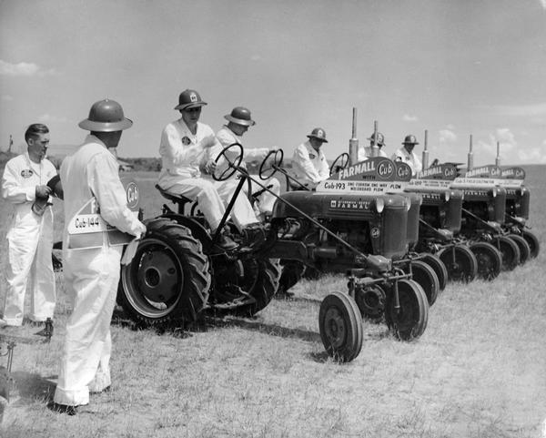
<instances>
[{"instance_id":1,"label":"near front wheel of the nearest tractor, standing alone on grass","mask_svg":"<svg viewBox=\"0 0 546 438\"><path fill-rule=\"evenodd\" d=\"M350 362L362 349L364 329L355 300L342 292L332 292L320 303L320 339L336 362Z\"/></svg>"}]
</instances>

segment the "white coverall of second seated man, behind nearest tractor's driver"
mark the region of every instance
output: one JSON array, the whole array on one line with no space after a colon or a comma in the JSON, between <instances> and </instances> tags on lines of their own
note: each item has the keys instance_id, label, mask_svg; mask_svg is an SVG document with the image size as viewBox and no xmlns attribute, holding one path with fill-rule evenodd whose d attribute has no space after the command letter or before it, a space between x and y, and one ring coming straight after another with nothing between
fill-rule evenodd
<instances>
[{"instance_id":1,"label":"white coverall of second seated man, behind nearest tractor's driver","mask_svg":"<svg viewBox=\"0 0 546 438\"><path fill-rule=\"evenodd\" d=\"M241 138L238 137L238 135L235 134L235 132L233 132L227 126L221 127L217 131L217 139L222 145L222 148L227 148L227 146L232 145L233 143L238 143L242 145ZM234 147L233 150L238 151L238 148ZM218 152L221 152L221 150ZM266 158L268 153L269 153L268 148L245 148L243 153L243 162L263 161L263 159ZM219 168L217 168L217 173L221 171L223 170L220 170ZM256 176L256 178L259 179L258 175ZM232 181L232 180L238 181L237 176L235 174L232 177L227 179L227 181ZM277 196L279 195L280 184L278 183L277 178L272 177L263 181L260 180L260 182L266 187L271 186L269 189L273 193L275 193ZM260 186L258 186L258 184L255 184L254 182L251 181L250 189L252 193L255 193L262 190L263 188L261 188ZM248 184L245 184L243 186L243 190L245 195L247 195L248 197ZM273 205L275 204L276 200L277 198L274 195L269 193L267 190L264 190L263 193L261 193L257 198L255 210L258 209L258 214L259 213L270 214L271 211L273 211Z\"/></svg>"}]
</instances>

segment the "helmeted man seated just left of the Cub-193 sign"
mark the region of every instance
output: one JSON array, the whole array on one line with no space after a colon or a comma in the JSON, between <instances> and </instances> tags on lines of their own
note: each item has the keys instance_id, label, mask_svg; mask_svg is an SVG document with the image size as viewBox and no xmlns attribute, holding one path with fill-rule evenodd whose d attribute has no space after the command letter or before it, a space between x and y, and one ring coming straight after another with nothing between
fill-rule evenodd
<instances>
[{"instance_id":1,"label":"helmeted man seated just left of the Cub-193 sign","mask_svg":"<svg viewBox=\"0 0 546 438\"><path fill-rule=\"evenodd\" d=\"M315 127L307 137L308 141L301 143L294 150L292 173L303 187L316 188L320 181L329 178L329 164L320 149L328 140L322 127ZM292 188L298 186L293 185Z\"/></svg>"}]
</instances>

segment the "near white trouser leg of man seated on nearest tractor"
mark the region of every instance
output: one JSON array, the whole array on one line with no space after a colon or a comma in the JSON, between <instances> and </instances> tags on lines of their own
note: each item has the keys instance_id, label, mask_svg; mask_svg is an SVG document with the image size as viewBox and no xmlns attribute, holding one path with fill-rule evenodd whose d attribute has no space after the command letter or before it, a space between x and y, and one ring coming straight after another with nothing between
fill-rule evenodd
<instances>
[{"instance_id":1,"label":"near white trouser leg of man seated on nearest tractor","mask_svg":"<svg viewBox=\"0 0 546 438\"><path fill-rule=\"evenodd\" d=\"M216 231L226 212L224 203L217 192L216 183L205 178L186 178L178 180L176 184L166 189L188 199L197 200L210 229L213 232Z\"/></svg>"}]
</instances>

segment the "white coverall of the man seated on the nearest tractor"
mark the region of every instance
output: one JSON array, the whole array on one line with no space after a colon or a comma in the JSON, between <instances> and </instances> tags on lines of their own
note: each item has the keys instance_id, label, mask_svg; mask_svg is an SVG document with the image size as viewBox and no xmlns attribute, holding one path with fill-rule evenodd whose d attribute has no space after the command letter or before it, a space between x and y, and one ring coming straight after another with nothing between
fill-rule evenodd
<instances>
[{"instance_id":1,"label":"white coverall of the man seated on the nearest tractor","mask_svg":"<svg viewBox=\"0 0 546 438\"><path fill-rule=\"evenodd\" d=\"M200 168L209 158L213 158L212 151L218 148L220 145L211 127L197 122L197 132L193 135L182 118L163 129L159 146L162 169L157 183L161 188L188 199L197 199L199 209L213 232L226 212L223 199L231 199L237 187L237 181L221 184L201 178ZM239 229L258 222L252 206L244 196L236 200L231 218Z\"/></svg>"}]
</instances>

